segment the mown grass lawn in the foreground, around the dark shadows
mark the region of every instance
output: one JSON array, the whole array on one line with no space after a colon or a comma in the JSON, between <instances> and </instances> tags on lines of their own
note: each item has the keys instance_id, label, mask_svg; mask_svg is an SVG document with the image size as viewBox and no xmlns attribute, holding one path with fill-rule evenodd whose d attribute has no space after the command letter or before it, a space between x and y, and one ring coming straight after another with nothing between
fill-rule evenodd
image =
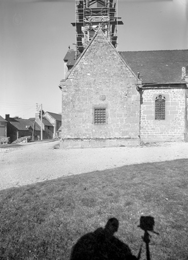
<instances>
[{"instance_id":1,"label":"mown grass lawn in the foreground, around the dark shadows","mask_svg":"<svg viewBox=\"0 0 188 260\"><path fill-rule=\"evenodd\" d=\"M55 169L55 168L54 168ZM141 216L155 218L152 260L188 259L188 160L124 166L0 191L0 259L69 259L72 246L116 217L138 254ZM146 259L145 245L141 259Z\"/></svg>"}]
</instances>

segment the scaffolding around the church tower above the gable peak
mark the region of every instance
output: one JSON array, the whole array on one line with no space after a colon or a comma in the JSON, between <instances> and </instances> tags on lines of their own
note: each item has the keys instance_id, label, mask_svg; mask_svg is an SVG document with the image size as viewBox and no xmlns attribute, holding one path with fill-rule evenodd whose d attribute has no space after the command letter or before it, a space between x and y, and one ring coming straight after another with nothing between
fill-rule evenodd
<instances>
[{"instance_id":1,"label":"scaffolding around the church tower above the gable peak","mask_svg":"<svg viewBox=\"0 0 188 260\"><path fill-rule=\"evenodd\" d=\"M82 53L94 36L98 27L112 45L117 48L118 25L123 24L118 17L118 0L76 0L76 55Z\"/></svg>"}]
</instances>

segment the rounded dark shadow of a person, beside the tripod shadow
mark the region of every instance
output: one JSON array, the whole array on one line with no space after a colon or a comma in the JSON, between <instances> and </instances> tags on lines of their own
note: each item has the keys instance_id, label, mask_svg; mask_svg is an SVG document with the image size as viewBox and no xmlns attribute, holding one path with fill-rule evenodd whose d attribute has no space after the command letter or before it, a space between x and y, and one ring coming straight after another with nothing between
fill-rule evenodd
<instances>
[{"instance_id":1,"label":"rounded dark shadow of a person, beside the tripod shadow","mask_svg":"<svg viewBox=\"0 0 188 260\"><path fill-rule=\"evenodd\" d=\"M119 221L108 219L105 228L99 228L81 237L72 247L70 260L136 260L128 245L114 236Z\"/></svg>"}]
</instances>

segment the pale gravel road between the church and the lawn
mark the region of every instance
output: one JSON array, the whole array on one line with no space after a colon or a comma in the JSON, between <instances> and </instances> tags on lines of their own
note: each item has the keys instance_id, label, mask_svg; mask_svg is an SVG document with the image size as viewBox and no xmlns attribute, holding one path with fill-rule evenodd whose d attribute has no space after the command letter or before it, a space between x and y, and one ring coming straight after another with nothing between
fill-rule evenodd
<instances>
[{"instance_id":1,"label":"pale gravel road between the church and the lawn","mask_svg":"<svg viewBox=\"0 0 188 260\"><path fill-rule=\"evenodd\" d=\"M188 143L56 149L59 141L0 148L0 189L124 165L188 158Z\"/></svg>"}]
</instances>

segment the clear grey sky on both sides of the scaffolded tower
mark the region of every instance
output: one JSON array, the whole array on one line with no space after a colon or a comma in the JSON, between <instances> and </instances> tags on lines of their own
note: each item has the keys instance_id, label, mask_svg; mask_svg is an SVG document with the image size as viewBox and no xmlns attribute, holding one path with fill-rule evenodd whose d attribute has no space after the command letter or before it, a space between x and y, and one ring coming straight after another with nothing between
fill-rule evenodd
<instances>
[{"instance_id":1,"label":"clear grey sky on both sides of the scaffolded tower","mask_svg":"<svg viewBox=\"0 0 188 260\"><path fill-rule=\"evenodd\" d=\"M188 0L118 0L118 17L119 51L188 47ZM74 21L74 0L0 0L2 117L28 119L41 104L61 113L58 85L68 46L75 46Z\"/></svg>"}]
</instances>

